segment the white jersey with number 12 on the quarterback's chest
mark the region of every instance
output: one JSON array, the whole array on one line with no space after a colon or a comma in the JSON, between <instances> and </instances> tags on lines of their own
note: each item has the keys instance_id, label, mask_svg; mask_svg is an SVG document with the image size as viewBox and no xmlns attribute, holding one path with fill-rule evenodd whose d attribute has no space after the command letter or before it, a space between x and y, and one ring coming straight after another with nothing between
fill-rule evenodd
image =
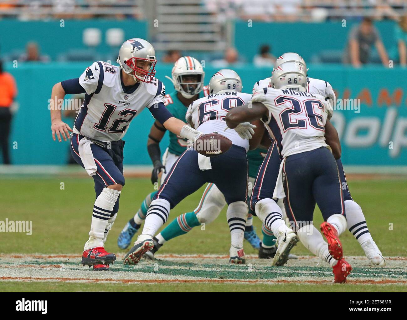
<instances>
[{"instance_id":1,"label":"white jersey with number 12 on the quarterback's chest","mask_svg":"<svg viewBox=\"0 0 407 320\"><path fill-rule=\"evenodd\" d=\"M163 102L165 87L157 78L125 87L121 69L96 61L79 77L85 100L74 124L74 133L99 141L123 138L131 120L144 108Z\"/></svg>"}]
</instances>

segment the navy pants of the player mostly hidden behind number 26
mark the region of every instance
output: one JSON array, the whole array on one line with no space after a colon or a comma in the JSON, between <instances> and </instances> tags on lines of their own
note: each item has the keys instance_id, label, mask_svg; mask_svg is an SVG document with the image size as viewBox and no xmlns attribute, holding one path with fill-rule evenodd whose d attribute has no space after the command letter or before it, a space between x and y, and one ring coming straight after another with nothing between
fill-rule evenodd
<instances>
[{"instance_id":1,"label":"navy pants of the player mostly hidden behind number 26","mask_svg":"<svg viewBox=\"0 0 407 320\"><path fill-rule=\"evenodd\" d=\"M275 142L273 142L269 147L269 150L267 151L267 155L264 158L263 163L260 165L259 171L257 173L257 178L254 183L253 194L250 202L250 208L253 211L256 203L261 199L273 198L280 163L280 155L278 153L277 147L275 146ZM348 183L346 182L346 176L341 159L337 159L336 163L341 179L341 187L344 192L344 199L353 200L350 196Z\"/></svg>"}]
</instances>

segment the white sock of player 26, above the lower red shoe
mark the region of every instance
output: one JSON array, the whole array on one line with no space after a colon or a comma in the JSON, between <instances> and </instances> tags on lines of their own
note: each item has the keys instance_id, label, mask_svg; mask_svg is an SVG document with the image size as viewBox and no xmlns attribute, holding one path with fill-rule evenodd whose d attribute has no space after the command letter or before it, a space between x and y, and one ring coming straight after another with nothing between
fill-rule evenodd
<instances>
[{"instance_id":1,"label":"white sock of player 26, above the lower red shoe","mask_svg":"<svg viewBox=\"0 0 407 320\"><path fill-rule=\"evenodd\" d=\"M303 226L297 232L298 239L305 248L310 250L314 255L328 262L331 267L335 266L335 260L329 253L328 244L325 242L322 234L313 225Z\"/></svg>"}]
</instances>

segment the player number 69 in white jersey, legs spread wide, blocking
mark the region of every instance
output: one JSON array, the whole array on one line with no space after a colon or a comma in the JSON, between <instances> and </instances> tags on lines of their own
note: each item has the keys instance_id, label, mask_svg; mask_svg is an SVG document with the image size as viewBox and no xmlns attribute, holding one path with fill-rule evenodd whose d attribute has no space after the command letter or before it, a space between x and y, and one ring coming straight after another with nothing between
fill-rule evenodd
<instances>
[{"instance_id":1,"label":"player number 69 in white jersey, legs spread wide, blocking","mask_svg":"<svg viewBox=\"0 0 407 320\"><path fill-rule=\"evenodd\" d=\"M186 120L199 132L221 133L232 141L232 147L225 154L217 157L205 157L196 150L188 148L175 162L167 174L160 190L154 196L147 211L142 234L127 253L124 263L137 264L145 253L144 247L152 249L153 237L167 221L170 209L182 199L199 189L204 183L214 183L223 194L228 210L226 213L232 245L230 260L244 263L243 237L247 219L247 157L252 134L258 141L263 136L264 128L259 126L261 135L253 130L254 124L237 126L239 134L234 130L226 130L224 118L234 107L247 103L251 95L241 93L240 77L233 70L219 70L209 83L210 94L195 100L186 113ZM192 212L184 216L184 225L196 224L198 218Z\"/></svg>"}]
</instances>

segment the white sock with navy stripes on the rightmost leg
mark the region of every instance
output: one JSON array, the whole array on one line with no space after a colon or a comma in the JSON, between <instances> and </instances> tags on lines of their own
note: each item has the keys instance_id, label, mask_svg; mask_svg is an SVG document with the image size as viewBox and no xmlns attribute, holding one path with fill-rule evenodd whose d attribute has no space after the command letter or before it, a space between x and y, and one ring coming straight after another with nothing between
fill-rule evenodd
<instances>
[{"instance_id":1,"label":"white sock with navy stripes on the rightmost leg","mask_svg":"<svg viewBox=\"0 0 407 320\"><path fill-rule=\"evenodd\" d=\"M373 241L361 207L353 200L345 200L345 212L348 220L348 230L359 244L363 244L368 240Z\"/></svg>"}]
</instances>

